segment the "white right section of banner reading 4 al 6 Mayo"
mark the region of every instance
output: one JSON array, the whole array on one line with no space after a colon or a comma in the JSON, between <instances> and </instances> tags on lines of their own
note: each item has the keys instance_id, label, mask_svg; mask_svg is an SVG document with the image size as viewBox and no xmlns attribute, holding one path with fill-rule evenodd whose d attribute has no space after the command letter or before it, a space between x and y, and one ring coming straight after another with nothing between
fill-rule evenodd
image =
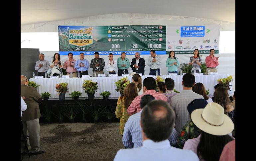
<instances>
[{"instance_id":1,"label":"white right section of banner reading 4 al 6 Mayo","mask_svg":"<svg viewBox=\"0 0 256 161\"><path fill-rule=\"evenodd\" d=\"M167 26L166 51L175 54L190 54L198 49L201 54L210 53L210 49L219 53L220 25L205 26Z\"/></svg>"}]
</instances>

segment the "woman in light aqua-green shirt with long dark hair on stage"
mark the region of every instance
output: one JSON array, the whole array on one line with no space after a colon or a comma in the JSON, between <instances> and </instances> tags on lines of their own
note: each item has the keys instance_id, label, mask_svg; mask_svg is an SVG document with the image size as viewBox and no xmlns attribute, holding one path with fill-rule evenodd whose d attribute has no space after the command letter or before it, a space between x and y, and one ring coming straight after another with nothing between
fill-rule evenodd
<instances>
[{"instance_id":1,"label":"woman in light aqua-green shirt with long dark hair on stage","mask_svg":"<svg viewBox=\"0 0 256 161\"><path fill-rule=\"evenodd\" d=\"M180 64L179 64L178 58L175 57L174 51L170 51L169 57L166 60L165 66L168 67L168 72L169 72L168 75L170 73L177 73L178 74L178 68L177 67L179 67Z\"/></svg>"}]
</instances>

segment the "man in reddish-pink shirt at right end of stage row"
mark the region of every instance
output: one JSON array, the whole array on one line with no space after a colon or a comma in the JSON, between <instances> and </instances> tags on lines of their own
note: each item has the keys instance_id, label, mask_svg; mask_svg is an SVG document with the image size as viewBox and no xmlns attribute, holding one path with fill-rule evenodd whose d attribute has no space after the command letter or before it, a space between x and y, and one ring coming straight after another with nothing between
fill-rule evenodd
<instances>
[{"instance_id":1,"label":"man in reddish-pink shirt at right end of stage row","mask_svg":"<svg viewBox=\"0 0 256 161\"><path fill-rule=\"evenodd\" d=\"M218 62L218 56L214 56L214 49L210 49L210 55L206 56L205 58L205 63L206 63L206 74L208 74L208 69L210 70L210 72L217 72L218 70L216 69L216 66L219 65Z\"/></svg>"}]
</instances>

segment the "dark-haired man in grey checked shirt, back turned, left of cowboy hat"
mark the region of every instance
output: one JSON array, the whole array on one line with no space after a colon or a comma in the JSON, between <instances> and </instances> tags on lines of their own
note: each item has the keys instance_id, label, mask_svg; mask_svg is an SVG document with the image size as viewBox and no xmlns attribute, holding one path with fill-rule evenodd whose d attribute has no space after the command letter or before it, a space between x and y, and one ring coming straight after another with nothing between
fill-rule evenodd
<instances>
[{"instance_id":1,"label":"dark-haired man in grey checked shirt, back turned, left of cowboy hat","mask_svg":"<svg viewBox=\"0 0 256 161\"><path fill-rule=\"evenodd\" d=\"M187 121L191 120L188 112L188 105L194 99L204 99L202 95L199 95L192 91L192 87L195 84L195 77L191 73L186 73L182 77L183 91L178 95L175 95L171 99L171 106L176 112L175 129L181 132L182 127Z\"/></svg>"}]
</instances>

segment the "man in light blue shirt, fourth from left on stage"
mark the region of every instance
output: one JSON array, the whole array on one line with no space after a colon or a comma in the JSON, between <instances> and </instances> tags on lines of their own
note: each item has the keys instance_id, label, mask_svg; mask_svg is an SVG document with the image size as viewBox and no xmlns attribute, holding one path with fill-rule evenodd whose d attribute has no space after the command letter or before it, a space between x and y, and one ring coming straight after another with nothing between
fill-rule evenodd
<instances>
[{"instance_id":1,"label":"man in light blue shirt, fourth from left on stage","mask_svg":"<svg viewBox=\"0 0 256 161\"><path fill-rule=\"evenodd\" d=\"M88 75L88 68L90 67L90 63L88 60L84 59L84 53L80 53L80 59L75 61L75 68L77 72L80 73L80 78L82 75Z\"/></svg>"}]
</instances>

